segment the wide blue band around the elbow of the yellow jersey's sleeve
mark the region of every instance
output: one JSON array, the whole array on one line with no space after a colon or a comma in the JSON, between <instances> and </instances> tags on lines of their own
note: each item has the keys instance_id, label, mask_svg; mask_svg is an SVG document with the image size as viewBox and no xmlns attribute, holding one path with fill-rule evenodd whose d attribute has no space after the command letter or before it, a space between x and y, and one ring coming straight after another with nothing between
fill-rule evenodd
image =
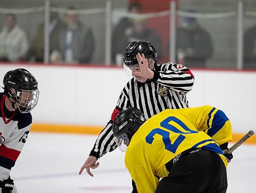
<instances>
[{"instance_id":1,"label":"wide blue band around the elbow of the yellow jersey's sleeve","mask_svg":"<svg viewBox=\"0 0 256 193\"><path fill-rule=\"evenodd\" d=\"M218 110L214 115L214 119L212 119L211 128L209 128L207 135L210 137L214 136L218 131L221 130L226 121L228 121L227 116L223 113L223 111Z\"/></svg>"}]
</instances>

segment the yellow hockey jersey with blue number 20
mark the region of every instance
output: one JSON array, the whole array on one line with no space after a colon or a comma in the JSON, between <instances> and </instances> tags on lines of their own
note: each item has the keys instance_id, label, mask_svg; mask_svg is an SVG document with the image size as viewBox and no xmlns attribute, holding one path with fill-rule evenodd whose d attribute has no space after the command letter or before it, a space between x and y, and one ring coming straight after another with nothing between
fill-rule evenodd
<instances>
[{"instance_id":1,"label":"yellow hockey jersey with blue number 20","mask_svg":"<svg viewBox=\"0 0 256 193\"><path fill-rule=\"evenodd\" d=\"M138 192L151 193L159 183L155 175L168 176L165 164L189 148L216 152L227 166L219 145L231 140L231 124L221 110L209 105L168 109L141 125L126 149L125 166Z\"/></svg>"}]
</instances>

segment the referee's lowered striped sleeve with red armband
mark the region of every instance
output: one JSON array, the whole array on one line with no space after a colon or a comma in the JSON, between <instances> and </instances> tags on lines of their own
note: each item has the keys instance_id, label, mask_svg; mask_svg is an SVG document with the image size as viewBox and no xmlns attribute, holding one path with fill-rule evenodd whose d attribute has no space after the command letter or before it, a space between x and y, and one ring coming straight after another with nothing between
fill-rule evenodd
<instances>
[{"instance_id":1,"label":"referee's lowered striped sleeve with red armband","mask_svg":"<svg viewBox=\"0 0 256 193\"><path fill-rule=\"evenodd\" d=\"M90 156L94 156L98 159L104 156L106 153L112 152L114 149L116 149L117 144L114 141L112 125L117 114L123 109L130 107L131 103L129 101L129 98L127 97L129 88L130 88L130 84L128 83L121 91L121 94L117 102L117 106L112 113L111 120L108 122L108 124L106 124L104 129L99 134L93 146L93 149L90 153Z\"/></svg>"}]
</instances>

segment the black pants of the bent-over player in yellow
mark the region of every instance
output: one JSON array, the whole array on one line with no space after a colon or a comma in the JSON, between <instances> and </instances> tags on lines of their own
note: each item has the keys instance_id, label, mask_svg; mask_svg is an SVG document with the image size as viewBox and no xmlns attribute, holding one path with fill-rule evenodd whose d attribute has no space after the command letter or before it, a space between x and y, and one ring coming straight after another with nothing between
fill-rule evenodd
<instances>
[{"instance_id":1,"label":"black pants of the bent-over player in yellow","mask_svg":"<svg viewBox=\"0 0 256 193\"><path fill-rule=\"evenodd\" d=\"M155 193L223 193L227 190L226 167L214 152L206 149L186 152L170 167L169 175L159 182Z\"/></svg>"}]
</instances>

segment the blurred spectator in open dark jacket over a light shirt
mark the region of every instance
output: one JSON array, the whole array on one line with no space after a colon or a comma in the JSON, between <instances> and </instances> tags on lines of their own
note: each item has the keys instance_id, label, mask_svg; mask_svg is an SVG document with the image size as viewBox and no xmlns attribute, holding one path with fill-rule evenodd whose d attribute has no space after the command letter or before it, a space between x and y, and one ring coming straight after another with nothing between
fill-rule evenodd
<instances>
[{"instance_id":1,"label":"blurred spectator in open dark jacket over a light shirt","mask_svg":"<svg viewBox=\"0 0 256 193\"><path fill-rule=\"evenodd\" d=\"M91 28L83 25L76 8L69 7L65 15L66 26L60 31L58 48L50 58L52 62L89 63L94 53L94 36Z\"/></svg>"}]
</instances>

